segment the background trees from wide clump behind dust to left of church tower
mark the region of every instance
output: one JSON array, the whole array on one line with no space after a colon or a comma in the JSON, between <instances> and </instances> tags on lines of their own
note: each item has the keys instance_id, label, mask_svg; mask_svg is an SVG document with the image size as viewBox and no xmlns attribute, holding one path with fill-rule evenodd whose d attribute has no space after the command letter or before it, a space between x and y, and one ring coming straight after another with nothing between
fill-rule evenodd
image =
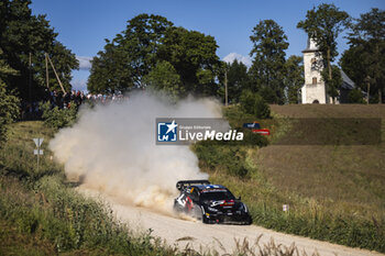
<instances>
[{"instance_id":1,"label":"background trees from wide clump behind dust to left of church tower","mask_svg":"<svg viewBox=\"0 0 385 256\"><path fill-rule=\"evenodd\" d=\"M103 51L94 57L88 90L113 93L151 88L175 99L187 94L224 98L227 81L232 103L245 90L258 92L270 103L297 103L304 84L301 57L290 56L286 62L288 43L283 29L273 20L261 21L251 40L252 67L237 59L227 64L216 54L212 36L174 26L164 16L140 14L112 41L106 40Z\"/></svg>"}]
</instances>

